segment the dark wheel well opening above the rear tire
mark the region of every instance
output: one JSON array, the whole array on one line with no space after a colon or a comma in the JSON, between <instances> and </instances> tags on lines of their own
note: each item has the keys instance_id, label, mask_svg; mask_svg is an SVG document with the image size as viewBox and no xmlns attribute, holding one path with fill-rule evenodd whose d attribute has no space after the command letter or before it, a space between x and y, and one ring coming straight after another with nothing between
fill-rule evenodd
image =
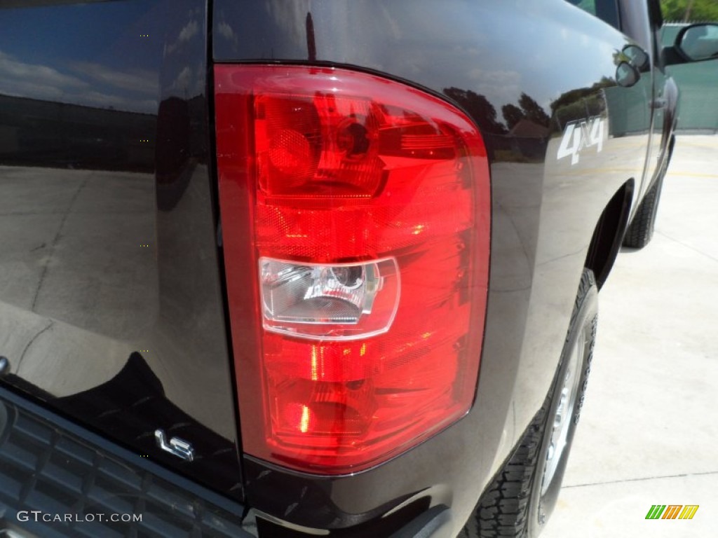
<instances>
[{"instance_id":1,"label":"dark wheel well opening above the rear tire","mask_svg":"<svg viewBox=\"0 0 718 538\"><path fill-rule=\"evenodd\" d=\"M593 231L584 266L593 271L599 289L608 278L623 242L632 199L633 179L630 179L610 199Z\"/></svg>"}]
</instances>

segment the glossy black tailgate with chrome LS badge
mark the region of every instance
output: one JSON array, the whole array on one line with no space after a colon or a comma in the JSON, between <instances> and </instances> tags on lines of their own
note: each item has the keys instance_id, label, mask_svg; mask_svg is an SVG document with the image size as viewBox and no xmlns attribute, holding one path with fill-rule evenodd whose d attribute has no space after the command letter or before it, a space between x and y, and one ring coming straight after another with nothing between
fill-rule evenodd
<instances>
[{"instance_id":1,"label":"glossy black tailgate with chrome LS badge","mask_svg":"<svg viewBox=\"0 0 718 538\"><path fill-rule=\"evenodd\" d=\"M41 4L0 7L6 381L241 498L206 3ZM158 428L195 461L164 452Z\"/></svg>"}]
</instances>

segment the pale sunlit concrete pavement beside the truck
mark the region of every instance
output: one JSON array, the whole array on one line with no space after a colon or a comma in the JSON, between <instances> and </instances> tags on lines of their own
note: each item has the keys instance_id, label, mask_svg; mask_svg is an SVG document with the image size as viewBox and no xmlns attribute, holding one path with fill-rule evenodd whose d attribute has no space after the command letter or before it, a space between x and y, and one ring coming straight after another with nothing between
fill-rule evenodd
<instances>
[{"instance_id":1,"label":"pale sunlit concrete pavement beside the truck","mask_svg":"<svg viewBox=\"0 0 718 538\"><path fill-rule=\"evenodd\" d=\"M679 136L653 241L600 293L587 400L542 538L718 536L718 136ZM691 520L647 520L697 504Z\"/></svg>"}]
</instances>

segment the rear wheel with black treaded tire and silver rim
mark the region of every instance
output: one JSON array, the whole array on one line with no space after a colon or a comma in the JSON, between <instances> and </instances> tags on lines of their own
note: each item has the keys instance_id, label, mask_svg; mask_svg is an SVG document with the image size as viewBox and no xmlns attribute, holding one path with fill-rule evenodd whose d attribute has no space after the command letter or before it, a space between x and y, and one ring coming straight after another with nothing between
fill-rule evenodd
<instances>
[{"instance_id":1,"label":"rear wheel with black treaded tire and silver rim","mask_svg":"<svg viewBox=\"0 0 718 538\"><path fill-rule=\"evenodd\" d=\"M544 528L558 499L584 402L596 338L597 312L595 279L590 270L584 270L561 362L549 395L523 434L521 443L482 495L475 513L459 534L460 538L535 538ZM569 379L574 397L569 397L568 407L564 409L567 401L562 395ZM563 420L556 426L554 420L559 420L561 415ZM559 452L554 443L556 428L560 430L559 438L565 440L565 448ZM555 461L549 459L552 445Z\"/></svg>"}]
</instances>

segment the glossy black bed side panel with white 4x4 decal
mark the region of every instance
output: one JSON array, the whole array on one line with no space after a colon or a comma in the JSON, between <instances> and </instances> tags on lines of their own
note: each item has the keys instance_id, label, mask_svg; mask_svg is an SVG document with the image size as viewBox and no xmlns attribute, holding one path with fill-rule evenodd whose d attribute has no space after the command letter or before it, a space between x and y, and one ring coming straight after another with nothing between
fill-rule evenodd
<instances>
[{"instance_id":1,"label":"glossy black bed side panel with white 4x4 decal","mask_svg":"<svg viewBox=\"0 0 718 538\"><path fill-rule=\"evenodd\" d=\"M493 189L488 321L472 411L357 476L296 475L287 487L285 473L246 457L253 506L307 527L343 527L424 497L452 505L460 529L546 396L602 210L643 174L651 82L616 85L626 44L563 0L215 1L217 62L353 67L463 108L489 148ZM523 121L507 126L507 105ZM590 126L590 118L603 124L600 142L564 139L569 124ZM577 151L561 156L562 141Z\"/></svg>"}]
</instances>

